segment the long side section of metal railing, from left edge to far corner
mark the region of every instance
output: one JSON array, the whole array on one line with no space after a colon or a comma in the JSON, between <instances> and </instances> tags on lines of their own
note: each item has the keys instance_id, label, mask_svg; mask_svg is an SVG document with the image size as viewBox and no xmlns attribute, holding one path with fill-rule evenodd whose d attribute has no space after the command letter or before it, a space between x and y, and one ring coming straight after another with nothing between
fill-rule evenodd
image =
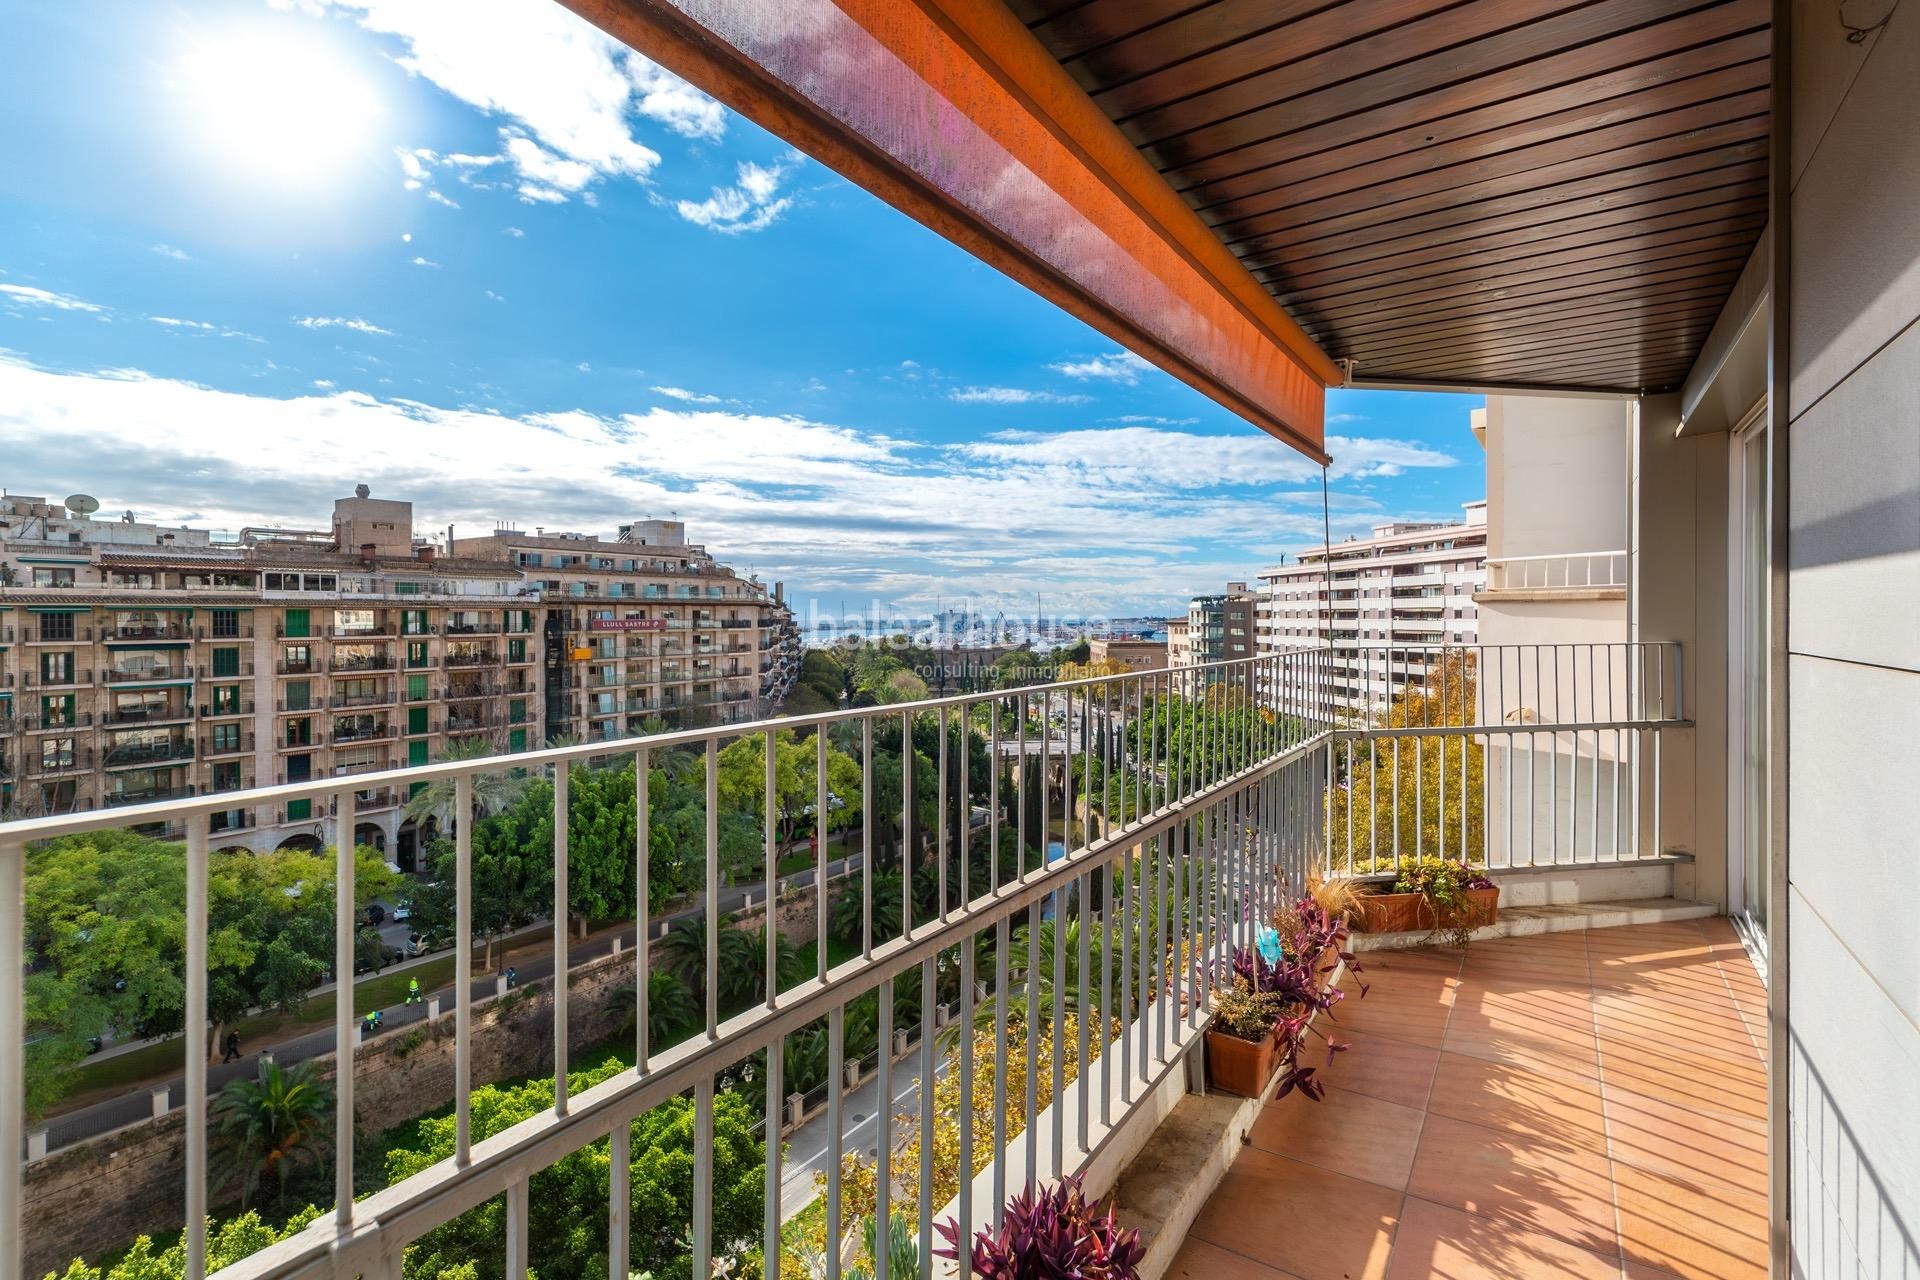
<instances>
[{"instance_id":1,"label":"long side section of metal railing, from left edge to far corner","mask_svg":"<svg viewBox=\"0 0 1920 1280\"><path fill-rule=\"evenodd\" d=\"M841 1180L847 1144L845 1063L849 1007L874 1000L877 1044L895 1042L897 1021L918 1021L920 1079L935 1080L945 1063L958 1075L960 1167L979 1165L991 1190L975 1192L962 1176L950 1205L933 1194L935 1090L920 1090L920 1115L908 1119L920 1142L918 1203L899 1205L918 1217L920 1257L935 1245L935 1213L954 1213L962 1222L998 1217L1010 1186L1029 1176L1073 1173L1092 1159L1106 1138L1154 1092L1185 1079L1185 1057L1208 1019L1219 963L1235 944L1250 944L1256 921L1281 900L1283 883L1300 885L1319 858L1321 814L1317 785L1325 771L1332 729L1319 689L1327 654L1294 651L1254 660L1198 668L1196 672L1139 672L1079 679L1029 689L977 693L922 702L797 716L710 729L687 729L611 743L545 748L476 762L440 762L419 768L365 773L351 779L311 779L257 791L221 793L192 800L150 804L113 814L35 818L0 825L0 952L25 946L21 925L21 873L33 842L131 823L182 823L186 835L186 946L184 1025L207 1025L209 944L209 816L240 808L284 812L292 800L321 800L315 812L332 810L332 829L351 831L355 793L390 787L451 785L451 812L472 812L474 779L507 770L549 771L553 779L553 900L568 902L568 781L572 768L636 762L637 814L636 900L641 904L634 973L651 971L655 933L647 910L653 760L668 756L693 770L705 791L705 850L687 850L703 869L705 892L697 913L705 925L703 988L697 988L701 1025L674 1044L655 1044L649 1031L649 983L636 983L634 1065L580 1094L566 1082L568 983L551 984L551 1063L557 1071L553 1105L484 1142L474 1140L470 1094L474 1080L474 1017L468 983L457 983L453 1007L453 1157L405 1176L371 1196L357 1197L353 1151L355 1073L336 1073L336 1171L334 1207L298 1234L223 1274L252 1276L394 1276L401 1247L424 1230L451 1221L484 1199L505 1197L507 1276L526 1274L526 1242L532 1215L528 1178L553 1161L612 1140L612 1194L605 1207L612 1274L628 1272L626 1153L636 1119L680 1094L693 1098L693 1219L687 1253L693 1276L708 1276L716 1261L747 1249L766 1249L764 1276L781 1270L780 1234L785 1221L780 1144L766 1146L766 1205L756 1240L720 1238L714 1232L714 1098L758 1063L766 1132L780 1132L785 1088L783 1061L789 1036L826 1038L829 1159L824 1169L828 1238L849 1228ZM1181 695L1181 681L1206 681L1200 702ZM1254 691L1263 691L1256 706ZM1052 725L1033 731L1031 725ZM797 890L812 906L816 963L797 984L781 984L778 931L764 931L766 963L758 994L745 1007L722 1002L718 938L720 896L720 750L735 741L756 743L766 762L762 796L776 789L776 741L799 735L812 760L810 800L816 814L837 814L843 848L854 856L839 879L816 877ZM874 771L877 752L895 745L902 796L899 810L877 802ZM912 750L906 747L912 745ZM1002 745L1016 747L1002 752ZM1029 750L1031 745L1031 750ZM787 748L791 752L791 747ZM829 771L851 787L843 758L854 760L858 796L831 794ZM979 762L985 760L985 768ZM931 787L916 773L931 764ZM893 766L889 766L893 768ZM924 806L933 793L931 814ZM330 800L330 804L328 804ZM985 806L995 819L977 823ZM760 902L781 892L778 864L785 852L781 806L760 804L764 877L755 887ZM1058 825L1056 825L1058 823ZM1058 831L1058 835L1054 835ZM334 936L336 973L353 973L357 923L355 858L351 844L336 850ZM472 823L453 823L455 938L472 948ZM828 854L833 856L831 846ZM876 898L883 877L899 875L902 890ZM904 887L912 887L908 892ZM858 894L856 927L843 935L854 952L829 963L829 910L839 892ZM895 906L881 910L883 902ZM891 912L897 912L893 915ZM574 946L568 913L555 917L553 969L568 971ZM1073 925L1060 936L1077 938L1079 988L1071 1002L1066 984L1068 946L1052 948L1052 975L1044 979L1041 950L1018 977L1010 971L1014 935L1043 936L1043 921ZM1100 936L1098 967L1089 944ZM1044 950L1044 948L1043 948ZM1044 979L1044 981L1043 981ZM895 992L920 990L918 1015L897 1015ZM1094 994L1094 990L1098 994ZM941 1034L935 1009L952 1009L952 1032ZM0 1151L23 1150L23 984L19 967L0 969ZM1021 1013L1021 1009L1025 1013ZM1068 1013L1085 1017L1075 1021ZM1098 1017L1094 1015L1098 1011ZM900 1031L910 1031L902 1025ZM975 1034L995 1044L1018 1046L1027 1055L1021 1128L1008 1123L1008 1057L995 1054L991 1069L993 1119L975 1128ZM359 1017L349 1000L334 1006L334 1050L340 1063L353 1061ZM1064 1073L1077 1034L1073 1079ZM1052 1079L1037 1071L1041 1044L1050 1044ZM209 1207L209 1102L207 1055L200 1036L184 1048L184 1274L200 1280L207 1267ZM893 1059L876 1061L879 1098L895 1096ZM795 1082L804 1092L804 1082ZM1150 1111L1142 1111L1146 1115ZM985 1109L979 1115L987 1115ZM950 1119L950 1117L948 1117ZM876 1115L877 1219L891 1221L889 1205L897 1121L891 1105ZM864 1144L862 1144L864 1146ZM985 1173L985 1157L993 1174ZM977 1159L979 1157L979 1159ZM985 1182L981 1184L987 1186ZM945 1194L943 1194L945 1199ZM0 1280L19 1280L21 1163L0 1161ZM885 1268L885 1263L881 1263ZM837 1261L829 1274L837 1274ZM883 1274L883 1270L881 1270Z\"/></svg>"}]
</instances>

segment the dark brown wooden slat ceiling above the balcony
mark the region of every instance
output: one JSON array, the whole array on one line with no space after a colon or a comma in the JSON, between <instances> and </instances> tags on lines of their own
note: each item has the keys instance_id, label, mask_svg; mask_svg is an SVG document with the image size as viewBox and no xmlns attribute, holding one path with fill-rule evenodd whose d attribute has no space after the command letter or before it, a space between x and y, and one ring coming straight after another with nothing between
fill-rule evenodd
<instances>
[{"instance_id":1,"label":"dark brown wooden slat ceiling above the balcony","mask_svg":"<svg viewBox=\"0 0 1920 1280\"><path fill-rule=\"evenodd\" d=\"M1766 219L1766 0L1008 0L1359 380L1680 384Z\"/></svg>"}]
</instances>

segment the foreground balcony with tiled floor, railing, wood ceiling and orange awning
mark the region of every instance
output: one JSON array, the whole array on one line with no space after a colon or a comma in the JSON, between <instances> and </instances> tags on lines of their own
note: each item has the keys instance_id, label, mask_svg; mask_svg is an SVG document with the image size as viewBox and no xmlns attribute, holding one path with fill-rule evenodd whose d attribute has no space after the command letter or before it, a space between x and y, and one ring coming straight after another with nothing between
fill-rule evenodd
<instances>
[{"instance_id":1,"label":"foreground balcony with tiled floor, railing, wood ceiling and orange awning","mask_svg":"<svg viewBox=\"0 0 1920 1280\"><path fill-rule=\"evenodd\" d=\"M1008 875L995 865L985 887L970 867L952 875L950 823L935 825L924 852L948 879L931 912L902 910L900 935L883 938L856 900L851 954L820 948L820 969L787 990L768 973L745 1007L693 992L703 1027L674 1046L649 1042L636 1006L634 1055L578 1092L566 1084L578 988L557 983L551 1102L482 1138L465 1088L436 1098L453 1117L447 1159L361 1201L344 1196L232 1263L236 1280L394 1274L403 1249L482 1203L501 1222L490 1274L520 1280L545 1261L528 1257L532 1240L574 1228L607 1245L570 1263L626 1274L632 1197L563 1207L530 1178L574 1151L624 1151L639 1117L687 1096L674 1105L693 1130L693 1213L674 1265L693 1276L764 1267L787 1221L783 1150L764 1146L764 1221L718 1221L716 1098L751 1063L772 1077L755 1098L764 1132L780 1132L787 1055L766 1050L803 1034L822 1054L822 1150L893 1161L912 1138L927 1157L924 1180L906 1161L862 1178L902 1192L893 1207L916 1268L931 1270L935 1221L954 1215L972 1236L1029 1180L1079 1173L1142 1228L1148 1276L1920 1272L1920 965L1897 856L1914 825L1920 656L1905 603L1920 482L1889 409L1912 403L1920 370L1910 13L1803 6L1791 29L1770 31L1786 8L1753 0L1526 12L1467 0L1413 17L1348 0L1275 27L1265 6L1235 17L1175 0L899 6L889 21L822 0L806 29L826 36L793 38L753 6L710 31L701 13L712 6L666 6L666 19L624 0L582 8L760 123L803 132L824 165L1177 368L1311 464L1327 461L1329 386L1563 391L1551 399L1619 413L1603 428L1619 445L1605 470L1549 430L1548 413L1574 424L1574 409L1530 405L1544 436L1505 441L1559 439L1536 453L1540 466L1505 445L1498 466L1488 455L1490 489L1496 476L1517 484L1490 493L1488 557L1501 568L1486 593L1561 593L1492 604L1524 626L1605 622L1609 635L1407 637L1379 672L1396 693L1357 718L1332 710L1329 654L1260 658L1279 672L1250 674L1248 687L1292 693L1271 718L1219 725L1213 750L1167 758L1108 737L1110 768L1139 789L1110 825L1069 821L1058 854ZM1611 474L1619 486L1599 480ZM1596 493L1609 503L1588 509ZM1580 528L1615 514L1611 495L1619 537ZM1501 510L1515 522L1500 528ZM1622 587L1517 581L1507 568L1622 547ZM1611 616L1563 608L1615 603L1619 633ZM839 741L858 743L885 718L973 723L968 712L993 697L1006 695L833 720ZM1069 706L1083 695L1039 697ZM1165 687L1131 704L1156 697ZM778 729L728 725L674 747L743 731ZM516 764L566 768L622 748ZM13 856L0 900L19 900L29 841L94 821L0 827ZM718 885L718 835L685 852ZM1482 867L1500 919L1465 950L1375 938L1325 1013L1350 1048L1315 1063L1323 1102L1200 1092L1212 998L1233 950L1258 950L1254 925L1309 875L1377 883L1427 854ZM697 908L708 940L720 910L718 894ZM1075 965L1075 988L1060 946L1054 981L1029 965L1016 990L1010 938L1041 936L1046 912L1062 938L1079 923L1083 948L1117 936L1123 963L1102 946L1089 954L1096 967ZM828 917L826 887L816 913ZM659 921L641 908L637 923L647 936ZM344 894L336 933L351 925ZM17 940L21 921L8 931ZM186 973L186 990L205 977ZM902 988L920 990L918 1006L900 1007ZM1021 998L1023 1044L1008 1040ZM1079 1044L1069 998L1100 1011L1073 1025ZM874 1002L883 1044L906 1032L920 1079L950 1086L899 1115L856 1109L845 1084L866 1071L845 1054L847 1027L864 1017L856 1000ZM0 1000L0 1054L12 1055L0 1079L23 1075L23 1009ZM482 1061L472 1023L451 1021L453 1080ZM937 1034L947 1027L981 1032ZM1023 1071L1031 1102L1010 1107L1008 1067L1016 1054L1037 1065L1043 1040L1058 1050L1054 1071ZM346 1017L334 1044L353 1061ZM947 1046L956 1057L943 1075ZM887 1052L874 1061L899 1065ZM881 1077L881 1096L895 1080ZM753 1102L728 1100L737 1105ZM205 1096L190 1098L186 1169L205 1167ZM25 1138L17 1109L0 1113L0 1148ZM332 1159L351 1171L351 1121L338 1144ZM814 1205L833 1274L864 1259L841 1165L826 1165L818 1203L797 1196ZM628 1190L628 1161L612 1169L609 1184ZM12 1215L0 1251L17 1255L27 1219L10 1190L0 1184ZM202 1194L186 1186L184 1201L198 1209ZM184 1244L204 1257L198 1213Z\"/></svg>"}]
</instances>

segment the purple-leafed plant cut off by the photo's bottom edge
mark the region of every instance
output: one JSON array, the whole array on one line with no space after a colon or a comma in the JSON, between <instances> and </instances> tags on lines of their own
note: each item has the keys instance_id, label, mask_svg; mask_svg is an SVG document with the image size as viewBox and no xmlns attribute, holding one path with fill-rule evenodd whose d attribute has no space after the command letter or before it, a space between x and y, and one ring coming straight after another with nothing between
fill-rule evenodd
<instances>
[{"instance_id":1,"label":"purple-leafed plant cut off by the photo's bottom edge","mask_svg":"<svg viewBox=\"0 0 1920 1280\"><path fill-rule=\"evenodd\" d=\"M935 1230L947 1244L933 1255L960 1261L960 1222L947 1219ZM1142 1257L1140 1232L1121 1228L1110 1205L1089 1203L1073 1176L1018 1192L1000 1228L973 1236L970 1261L987 1280L1133 1280Z\"/></svg>"}]
</instances>

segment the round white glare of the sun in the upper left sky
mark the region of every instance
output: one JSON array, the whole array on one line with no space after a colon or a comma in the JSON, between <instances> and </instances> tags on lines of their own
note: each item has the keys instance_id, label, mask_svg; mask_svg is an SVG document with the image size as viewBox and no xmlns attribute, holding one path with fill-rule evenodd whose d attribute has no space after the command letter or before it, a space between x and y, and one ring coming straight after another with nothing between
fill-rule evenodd
<instances>
[{"instance_id":1,"label":"round white glare of the sun in the upper left sky","mask_svg":"<svg viewBox=\"0 0 1920 1280\"><path fill-rule=\"evenodd\" d=\"M338 182L369 154L386 104L323 36L223 33L186 50L173 75L184 138L209 163L276 186Z\"/></svg>"}]
</instances>

